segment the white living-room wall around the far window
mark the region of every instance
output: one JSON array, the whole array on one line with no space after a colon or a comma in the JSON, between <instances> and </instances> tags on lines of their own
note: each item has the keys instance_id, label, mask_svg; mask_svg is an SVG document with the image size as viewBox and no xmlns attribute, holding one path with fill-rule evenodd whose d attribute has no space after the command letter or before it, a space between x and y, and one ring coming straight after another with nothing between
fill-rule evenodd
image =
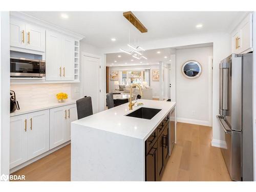
<instances>
[{"instance_id":1,"label":"white living-room wall around the far window","mask_svg":"<svg viewBox=\"0 0 256 192\"><path fill-rule=\"evenodd\" d=\"M159 65L110 67L109 71L143 70L143 69L150 69L150 87L152 88L152 96L153 98L159 98L160 97L160 81L152 80L152 70L159 70ZM110 75L109 75L109 92L111 92L112 90L115 90L114 82L115 81L110 80Z\"/></svg>"}]
</instances>

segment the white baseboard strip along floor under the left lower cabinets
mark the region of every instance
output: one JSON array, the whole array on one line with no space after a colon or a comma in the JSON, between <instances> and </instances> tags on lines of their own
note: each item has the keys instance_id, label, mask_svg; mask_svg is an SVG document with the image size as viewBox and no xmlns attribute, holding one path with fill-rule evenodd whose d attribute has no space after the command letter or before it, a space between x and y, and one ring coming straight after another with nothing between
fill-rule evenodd
<instances>
[{"instance_id":1,"label":"white baseboard strip along floor under the left lower cabinets","mask_svg":"<svg viewBox=\"0 0 256 192\"><path fill-rule=\"evenodd\" d=\"M63 146L66 146L66 145L70 144L70 142L71 142L71 141L67 141L66 143L63 143L63 144L61 144L61 145L59 145L59 146L56 146L55 148L51 149L51 150L48 151L48 152L45 152L45 153L43 153L43 154L41 154L41 155L38 155L37 157L34 157L33 159L30 159L30 160L28 160L28 161L26 161L26 162L24 162L24 163L22 163L22 164L20 164L20 165L17 165L17 166L15 166L15 167L11 168L11 169L10 169L10 174L16 172L17 170L19 170L19 169L21 169L21 168L23 168L23 167L25 167L25 166L27 166L27 165L29 165L29 164L35 162L35 161L41 159L41 158L43 158L43 157L45 157L45 156L47 156L47 155L49 155L49 154L51 154L51 153L53 153L53 152L55 152L55 151L57 151L57 150L59 150L59 149L62 148Z\"/></svg>"}]
</instances>

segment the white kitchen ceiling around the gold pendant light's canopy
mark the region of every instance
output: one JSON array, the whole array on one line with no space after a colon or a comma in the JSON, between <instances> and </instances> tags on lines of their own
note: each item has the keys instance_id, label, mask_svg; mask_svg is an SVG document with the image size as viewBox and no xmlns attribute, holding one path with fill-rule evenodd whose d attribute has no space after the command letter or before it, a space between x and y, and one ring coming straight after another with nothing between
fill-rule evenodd
<instances>
[{"instance_id":1,"label":"white kitchen ceiling around the gold pendant light's canopy","mask_svg":"<svg viewBox=\"0 0 256 192\"><path fill-rule=\"evenodd\" d=\"M182 35L208 32L228 32L246 12L133 12L147 28L147 33L138 32L122 15L116 12L64 12L64 19L57 11L24 12L61 28L81 34L87 44L108 48L114 45L126 45L131 30L131 38L140 42ZM202 24L201 29L196 25ZM115 37L116 41L111 41Z\"/></svg>"}]
</instances>

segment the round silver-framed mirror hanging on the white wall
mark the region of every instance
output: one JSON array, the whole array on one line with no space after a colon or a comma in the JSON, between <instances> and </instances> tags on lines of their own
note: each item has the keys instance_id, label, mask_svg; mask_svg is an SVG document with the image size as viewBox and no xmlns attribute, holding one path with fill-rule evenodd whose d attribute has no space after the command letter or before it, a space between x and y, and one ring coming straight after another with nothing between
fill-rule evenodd
<instances>
[{"instance_id":1,"label":"round silver-framed mirror hanging on the white wall","mask_svg":"<svg viewBox=\"0 0 256 192\"><path fill-rule=\"evenodd\" d=\"M199 62L190 60L183 64L181 72L182 74L190 79L197 78L200 76L202 71L201 65Z\"/></svg>"}]
</instances>

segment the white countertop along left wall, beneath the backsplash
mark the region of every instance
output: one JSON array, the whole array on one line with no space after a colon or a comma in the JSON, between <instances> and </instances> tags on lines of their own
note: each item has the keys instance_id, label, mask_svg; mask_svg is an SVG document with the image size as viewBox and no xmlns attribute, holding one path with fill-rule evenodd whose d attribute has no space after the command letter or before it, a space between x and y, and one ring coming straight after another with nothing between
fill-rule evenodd
<instances>
[{"instance_id":1,"label":"white countertop along left wall, beneath the backsplash","mask_svg":"<svg viewBox=\"0 0 256 192\"><path fill-rule=\"evenodd\" d=\"M23 106L22 103L19 103L20 110L16 110L10 113L10 117L16 116L16 115L23 115L26 113L32 113L36 111L47 110L51 108L57 108L58 106L65 106L65 105L74 104L74 103L76 103L76 100L73 100L73 99L68 99L66 102L63 102L63 103L59 103L58 101L56 101L56 102L50 102L50 103L31 104L28 106Z\"/></svg>"}]
</instances>

